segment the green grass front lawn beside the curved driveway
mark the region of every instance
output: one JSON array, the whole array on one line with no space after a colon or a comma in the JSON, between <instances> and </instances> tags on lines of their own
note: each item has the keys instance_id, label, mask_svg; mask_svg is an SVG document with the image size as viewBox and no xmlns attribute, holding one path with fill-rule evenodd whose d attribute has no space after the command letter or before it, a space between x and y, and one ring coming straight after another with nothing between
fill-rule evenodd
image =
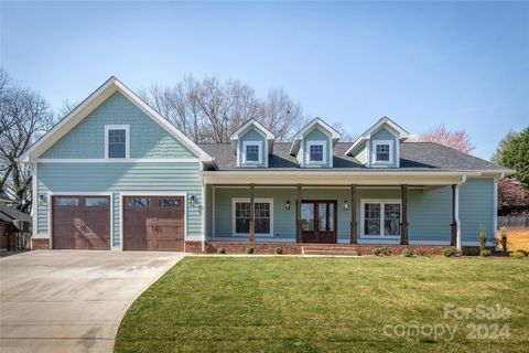
<instances>
[{"instance_id":1,"label":"green grass front lawn beside the curved driveway","mask_svg":"<svg viewBox=\"0 0 529 353\"><path fill-rule=\"evenodd\" d=\"M444 319L445 303L511 313ZM424 335L382 331L413 320ZM508 324L510 336L467 339L472 323ZM429 324L455 328L454 340ZM187 257L132 304L116 340L116 352L528 350L529 260L498 258Z\"/></svg>"}]
</instances>

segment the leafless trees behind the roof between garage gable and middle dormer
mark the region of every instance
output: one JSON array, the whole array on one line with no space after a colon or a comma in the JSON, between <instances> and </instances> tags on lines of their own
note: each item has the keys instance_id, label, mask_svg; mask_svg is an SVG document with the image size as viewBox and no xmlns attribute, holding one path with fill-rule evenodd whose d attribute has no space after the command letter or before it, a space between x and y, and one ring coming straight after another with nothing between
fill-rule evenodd
<instances>
[{"instance_id":1,"label":"leafless trees behind the roof between garage gable and middle dormer","mask_svg":"<svg viewBox=\"0 0 529 353\"><path fill-rule=\"evenodd\" d=\"M301 105L284 90L271 89L266 99L239 81L202 81L186 76L172 87L153 85L140 96L197 143L226 143L245 121L255 118L278 140L291 137L305 119Z\"/></svg>"}]
</instances>

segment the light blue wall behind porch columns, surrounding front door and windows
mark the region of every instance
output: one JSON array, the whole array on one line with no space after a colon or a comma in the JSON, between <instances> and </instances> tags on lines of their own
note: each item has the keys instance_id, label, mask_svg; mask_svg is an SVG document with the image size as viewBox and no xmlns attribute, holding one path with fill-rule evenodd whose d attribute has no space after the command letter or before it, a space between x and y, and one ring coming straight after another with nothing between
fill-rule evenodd
<instances>
[{"instance_id":1,"label":"light blue wall behind porch columns, surrounding front door and windows","mask_svg":"<svg viewBox=\"0 0 529 353\"><path fill-rule=\"evenodd\" d=\"M463 245L477 242L479 225L488 235L493 233L494 214L494 181L493 179L469 179L461 186L460 220L462 223ZM213 194L215 196L213 197ZM273 237L256 235L256 242L295 242L295 189L256 189L255 197L273 199ZM344 201L350 201L349 189L303 189L303 200L336 200L337 202L337 236L338 243L348 243L350 239L350 208L344 208ZM207 202L215 208L213 216L208 215L212 240L247 240L247 236L233 236L231 229L231 197L249 197L248 188L225 189L216 188L208 196ZM357 192L356 218L359 243L399 244L397 239L361 236L361 200L379 199L400 200L400 189L359 189ZM290 201L290 210L285 210L285 201ZM349 206L350 207L350 206ZM424 191L422 189L408 190L408 222L410 244L449 245L451 240L452 223L452 190L450 186Z\"/></svg>"}]
</instances>

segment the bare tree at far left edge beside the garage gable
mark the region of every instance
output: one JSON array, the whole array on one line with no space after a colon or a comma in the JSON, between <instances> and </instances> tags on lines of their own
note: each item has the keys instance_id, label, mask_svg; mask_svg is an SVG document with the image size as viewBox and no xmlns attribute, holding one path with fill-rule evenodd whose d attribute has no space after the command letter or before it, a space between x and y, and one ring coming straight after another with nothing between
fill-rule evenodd
<instances>
[{"instance_id":1,"label":"bare tree at far left edge beside the garage gable","mask_svg":"<svg viewBox=\"0 0 529 353\"><path fill-rule=\"evenodd\" d=\"M0 69L0 191L31 211L31 172L18 159L53 124L48 104Z\"/></svg>"}]
</instances>

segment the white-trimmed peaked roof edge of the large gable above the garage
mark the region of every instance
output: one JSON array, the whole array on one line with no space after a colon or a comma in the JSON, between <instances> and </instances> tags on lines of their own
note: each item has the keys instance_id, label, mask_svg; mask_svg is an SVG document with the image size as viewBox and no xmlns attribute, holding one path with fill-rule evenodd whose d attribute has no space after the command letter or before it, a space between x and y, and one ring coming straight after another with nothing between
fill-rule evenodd
<instances>
[{"instance_id":1,"label":"white-trimmed peaked roof edge of the large gable above the garage","mask_svg":"<svg viewBox=\"0 0 529 353\"><path fill-rule=\"evenodd\" d=\"M91 95L83 100L74 110L58 121L50 131L41 137L33 146L20 157L20 161L28 163L34 161L39 156L44 153L50 147L58 141L64 135L72 130L77 124L86 118L94 109L102 104L114 93L119 92L127 97L132 104L140 108L147 116L158 122L165 131L173 136L177 141L194 152L201 161L212 161L212 157L204 152L195 142L171 125L158 111L151 108L131 89L123 85L118 78L111 76Z\"/></svg>"}]
</instances>

